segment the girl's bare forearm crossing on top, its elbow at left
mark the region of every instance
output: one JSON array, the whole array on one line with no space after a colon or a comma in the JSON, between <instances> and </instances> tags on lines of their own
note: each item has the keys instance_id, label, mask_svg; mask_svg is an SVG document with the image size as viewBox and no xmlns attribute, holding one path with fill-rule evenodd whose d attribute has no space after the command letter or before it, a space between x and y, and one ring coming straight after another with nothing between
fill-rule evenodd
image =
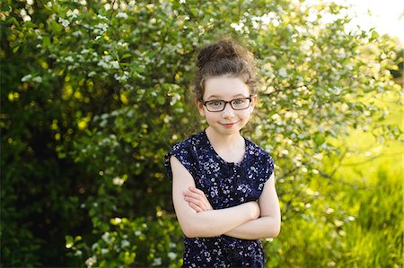
<instances>
[{"instance_id":1,"label":"girl's bare forearm crossing on top, its elbow at left","mask_svg":"<svg viewBox=\"0 0 404 268\"><path fill-rule=\"evenodd\" d=\"M221 210L195 212L182 222L184 234L189 238L213 238L255 219L257 210L254 203L243 203L238 206Z\"/></svg>"}]
</instances>

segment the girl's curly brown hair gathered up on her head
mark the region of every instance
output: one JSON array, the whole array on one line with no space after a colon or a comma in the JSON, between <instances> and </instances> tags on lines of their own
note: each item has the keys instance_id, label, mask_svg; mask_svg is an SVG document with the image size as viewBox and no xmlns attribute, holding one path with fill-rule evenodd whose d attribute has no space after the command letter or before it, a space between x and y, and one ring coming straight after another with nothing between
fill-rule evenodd
<instances>
[{"instance_id":1,"label":"girl's curly brown hair gathered up on her head","mask_svg":"<svg viewBox=\"0 0 404 268\"><path fill-rule=\"evenodd\" d=\"M233 39L222 39L202 48L198 55L198 75L194 85L196 98L203 99L206 79L212 76L240 77L248 85L250 94L257 91L254 56L249 49Z\"/></svg>"}]
</instances>

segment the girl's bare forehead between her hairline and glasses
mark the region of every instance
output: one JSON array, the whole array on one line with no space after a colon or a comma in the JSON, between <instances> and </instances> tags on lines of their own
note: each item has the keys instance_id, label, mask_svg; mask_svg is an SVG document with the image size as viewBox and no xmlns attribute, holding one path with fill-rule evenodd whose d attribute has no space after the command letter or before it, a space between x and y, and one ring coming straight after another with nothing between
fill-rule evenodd
<instances>
[{"instance_id":1,"label":"girl's bare forehead between her hairline and glasses","mask_svg":"<svg viewBox=\"0 0 404 268\"><path fill-rule=\"evenodd\" d=\"M215 76L206 79L204 99L231 99L250 95L249 87L240 77Z\"/></svg>"}]
</instances>

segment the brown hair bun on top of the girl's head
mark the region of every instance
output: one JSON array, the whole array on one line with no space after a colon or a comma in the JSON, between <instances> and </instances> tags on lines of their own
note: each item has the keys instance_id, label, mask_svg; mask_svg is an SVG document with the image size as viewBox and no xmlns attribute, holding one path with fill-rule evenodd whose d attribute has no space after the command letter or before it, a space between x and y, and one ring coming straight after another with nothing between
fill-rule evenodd
<instances>
[{"instance_id":1,"label":"brown hair bun on top of the girl's head","mask_svg":"<svg viewBox=\"0 0 404 268\"><path fill-rule=\"evenodd\" d=\"M209 62L221 59L233 59L234 57L245 57L244 49L232 39L224 39L215 44L203 48L198 56L197 66L201 69Z\"/></svg>"}]
</instances>

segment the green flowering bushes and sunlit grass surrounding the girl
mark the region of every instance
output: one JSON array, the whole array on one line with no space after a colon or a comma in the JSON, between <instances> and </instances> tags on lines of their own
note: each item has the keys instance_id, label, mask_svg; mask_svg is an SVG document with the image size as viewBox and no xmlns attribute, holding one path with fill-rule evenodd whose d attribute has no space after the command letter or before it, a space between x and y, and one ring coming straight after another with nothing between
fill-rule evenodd
<instances>
[{"instance_id":1,"label":"green flowering bushes and sunlit grass surrounding the girl","mask_svg":"<svg viewBox=\"0 0 404 268\"><path fill-rule=\"evenodd\" d=\"M244 134L277 161L268 266L400 266L402 55L347 7L6 0L0 17L2 266L181 264L163 156L203 127L194 59L223 36L259 62Z\"/></svg>"}]
</instances>

